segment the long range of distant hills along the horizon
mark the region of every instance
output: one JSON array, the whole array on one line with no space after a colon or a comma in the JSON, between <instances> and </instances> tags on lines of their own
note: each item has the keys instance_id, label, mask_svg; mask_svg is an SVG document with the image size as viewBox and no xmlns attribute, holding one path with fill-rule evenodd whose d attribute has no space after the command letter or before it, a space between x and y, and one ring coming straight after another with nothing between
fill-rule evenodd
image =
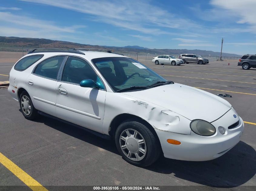
<instances>
[{"instance_id":1,"label":"long range of distant hills along the horizon","mask_svg":"<svg viewBox=\"0 0 256 191\"><path fill-rule=\"evenodd\" d=\"M98 48L109 49L114 52L122 53L151 53L151 54L182 54L194 53L202 56L220 56L220 52L213 52L209 50L188 50L188 49L149 49L141 46L99 46L90 44L72 43L60 40L49 40L39 38L21 38L21 37L0 37L0 47L22 47L25 48ZM222 56L240 56L237 54L222 53Z\"/></svg>"}]
</instances>

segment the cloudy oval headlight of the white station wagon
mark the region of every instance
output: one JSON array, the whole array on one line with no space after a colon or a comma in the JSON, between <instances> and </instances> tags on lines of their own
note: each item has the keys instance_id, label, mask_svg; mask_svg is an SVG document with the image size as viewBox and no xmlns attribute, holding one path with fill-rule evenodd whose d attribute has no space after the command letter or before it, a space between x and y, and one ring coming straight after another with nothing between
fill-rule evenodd
<instances>
[{"instance_id":1,"label":"cloudy oval headlight of the white station wagon","mask_svg":"<svg viewBox=\"0 0 256 191\"><path fill-rule=\"evenodd\" d=\"M195 119L190 123L191 130L201 136L211 136L216 132L215 127L204 120Z\"/></svg>"}]
</instances>

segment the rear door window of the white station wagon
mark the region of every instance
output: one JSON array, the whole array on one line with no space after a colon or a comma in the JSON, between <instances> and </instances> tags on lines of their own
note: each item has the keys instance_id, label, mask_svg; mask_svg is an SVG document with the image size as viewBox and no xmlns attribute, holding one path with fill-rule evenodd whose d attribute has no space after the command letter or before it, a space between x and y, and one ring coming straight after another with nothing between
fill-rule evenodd
<instances>
[{"instance_id":1,"label":"rear door window of the white station wagon","mask_svg":"<svg viewBox=\"0 0 256 191\"><path fill-rule=\"evenodd\" d=\"M65 56L55 56L44 60L37 65L34 74L56 80L60 65L64 58Z\"/></svg>"}]
</instances>

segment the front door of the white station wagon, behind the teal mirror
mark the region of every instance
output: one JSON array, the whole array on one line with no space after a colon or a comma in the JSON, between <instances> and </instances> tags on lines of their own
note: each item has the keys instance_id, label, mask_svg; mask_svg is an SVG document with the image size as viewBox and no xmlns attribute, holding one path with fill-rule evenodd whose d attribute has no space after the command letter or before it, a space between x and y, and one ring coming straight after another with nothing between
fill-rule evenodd
<instances>
[{"instance_id":1,"label":"front door of the white station wagon, behind the teal mirror","mask_svg":"<svg viewBox=\"0 0 256 191\"><path fill-rule=\"evenodd\" d=\"M69 56L62 79L57 82L55 89L57 117L102 132L105 113L105 88L103 84L102 89L81 87L79 83L84 79L100 81L87 61ZM102 82L100 81L100 83Z\"/></svg>"}]
</instances>

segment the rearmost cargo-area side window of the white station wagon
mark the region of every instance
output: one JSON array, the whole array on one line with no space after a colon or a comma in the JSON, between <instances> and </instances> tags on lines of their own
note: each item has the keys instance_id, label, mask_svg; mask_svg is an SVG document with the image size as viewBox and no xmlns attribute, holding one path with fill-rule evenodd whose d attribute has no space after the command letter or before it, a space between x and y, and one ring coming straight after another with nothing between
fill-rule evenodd
<instances>
[{"instance_id":1,"label":"rearmost cargo-area side window of the white station wagon","mask_svg":"<svg viewBox=\"0 0 256 191\"><path fill-rule=\"evenodd\" d=\"M26 56L25 58L21 59L20 61L15 64L14 69L18 71L24 71L29 66L40 60L44 55L43 54L37 54L32 56Z\"/></svg>"}]
</instances>

